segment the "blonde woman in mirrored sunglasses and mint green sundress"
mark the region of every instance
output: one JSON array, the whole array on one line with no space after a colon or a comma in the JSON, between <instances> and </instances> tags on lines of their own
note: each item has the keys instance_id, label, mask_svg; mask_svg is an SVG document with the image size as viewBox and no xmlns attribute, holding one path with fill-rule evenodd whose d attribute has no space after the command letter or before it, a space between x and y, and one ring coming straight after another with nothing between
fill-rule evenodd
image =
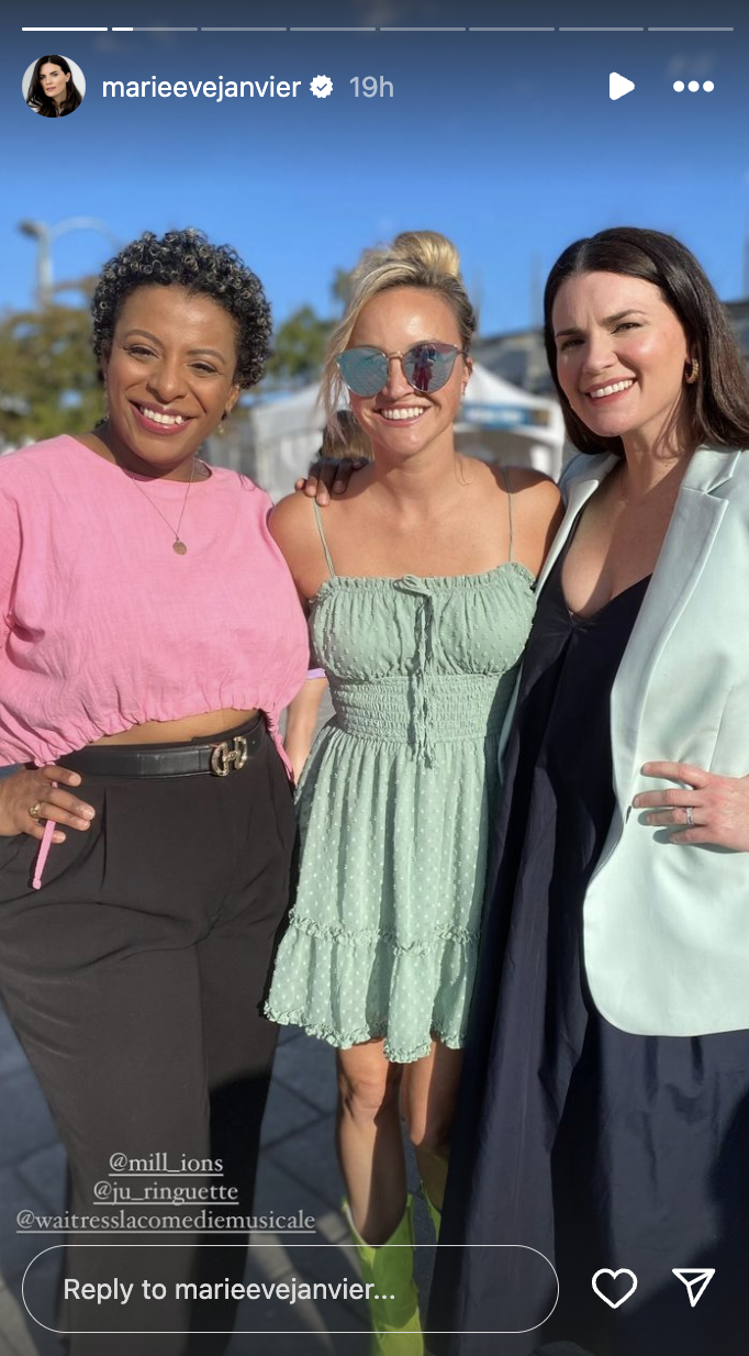
<instances>
[{"instance_id":1,"label":"blonde woman in mirrored sunglasses and mint green sundress","mask_svg":"<svg viewBox=\"0 0 749 1356\"><path fill-rule=\"evenodd\" d=\"M298 791L297 899L267 1013L339 1051L347 1215L375 1291L372 1349L391 1356L421 1351L400 1106L439 1223L498 732L559 504L546 477L455 450L475 323L443 236L366 252L324 392L335 419L348 386L372 461L325 529L303 495L271 518L335 717Z\"/></svg>"}]
</instances>

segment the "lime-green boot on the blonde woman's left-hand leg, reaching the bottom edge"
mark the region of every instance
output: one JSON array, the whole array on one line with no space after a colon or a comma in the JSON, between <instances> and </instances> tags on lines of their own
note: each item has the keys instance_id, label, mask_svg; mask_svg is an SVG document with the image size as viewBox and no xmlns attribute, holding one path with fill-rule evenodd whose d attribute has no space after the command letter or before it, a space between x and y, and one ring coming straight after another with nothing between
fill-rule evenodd
<instances>
[{"instance_id":1,"label":"lime-green boot on the blonde woman's left-hand leg, reaching the bottom edge","mask_svg":"<svg viewBox=\"0 0 749 1356\"><path fill-rule=\"evenodd\" d=\"M366 1243L354 1227L348 1201L343 1214L356 1243L362 1280L372 1290L367 1295L372 1322L370 1356L423 1356L419 1291L413 1281L413 1197L386 1243Z\"/></svg>"}]
</instances>

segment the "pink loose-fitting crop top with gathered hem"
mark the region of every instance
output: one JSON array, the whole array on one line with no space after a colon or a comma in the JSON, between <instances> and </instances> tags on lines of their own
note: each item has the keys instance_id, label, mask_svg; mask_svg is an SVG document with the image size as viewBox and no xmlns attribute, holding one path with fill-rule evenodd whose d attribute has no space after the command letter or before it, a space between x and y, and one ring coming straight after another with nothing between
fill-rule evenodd
<instances>
[{"instance_id":1,"label":"pink loose-fitting crop top with gathered hem","mask_svg":"<svg viewBox=\"0 0 749 1356\"><path fill-rule=\"evenodd\" d=\"M214 466L177 556L184 495L69 437L0 457L0 763L222 708L260 708L279 743L309 645L271 500Z\"/></svg>"}]
</instances>

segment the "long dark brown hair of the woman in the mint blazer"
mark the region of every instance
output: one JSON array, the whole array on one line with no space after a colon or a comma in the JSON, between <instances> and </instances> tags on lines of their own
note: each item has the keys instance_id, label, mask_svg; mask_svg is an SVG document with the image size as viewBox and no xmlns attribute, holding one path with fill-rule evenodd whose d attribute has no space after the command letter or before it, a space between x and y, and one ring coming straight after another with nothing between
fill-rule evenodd
<instances>
[{"instance_id":1,"label":"long dark brown hair of the woman in the mint blazer","mask_svg":"<svg viewBox=\"0 0 749 1356\"><path fill-rule=\"evenodd\" d=\"M557 376L551 312L568 278L584 273L618 273L660 289L679 317L699 361L699 380L685 384L693 446L749 447L749 374L726 312L695 256L673 236L639 226L612 226L576 240L549 274L543 294L546 357L559 392L568 438L580 452L623 454L620 438L596 438L570 408Z\"/></svg>"}]
</instances>

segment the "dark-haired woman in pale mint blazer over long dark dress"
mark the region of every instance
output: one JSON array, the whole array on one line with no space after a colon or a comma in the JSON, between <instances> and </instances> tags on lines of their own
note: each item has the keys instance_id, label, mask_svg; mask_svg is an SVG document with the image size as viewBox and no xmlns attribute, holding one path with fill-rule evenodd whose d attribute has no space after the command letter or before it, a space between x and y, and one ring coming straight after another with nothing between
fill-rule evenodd
<instances>
[{"instance_id":1,"label":"dark-haired woman in pale mint blazer over long dark dress","mask_svg":"<svg viewBox=\"0 0 749 1356\"><path fill-rule=\"evenodd\" d=\"M704 1356L749 1273L749 381L670 236L577 241L544 302L582 456L504 755L440 1235L471 1246L439 1249L429 1345ZM715 1272L699 1304L675 1268Z\"/></svg>"}]
</instances>

